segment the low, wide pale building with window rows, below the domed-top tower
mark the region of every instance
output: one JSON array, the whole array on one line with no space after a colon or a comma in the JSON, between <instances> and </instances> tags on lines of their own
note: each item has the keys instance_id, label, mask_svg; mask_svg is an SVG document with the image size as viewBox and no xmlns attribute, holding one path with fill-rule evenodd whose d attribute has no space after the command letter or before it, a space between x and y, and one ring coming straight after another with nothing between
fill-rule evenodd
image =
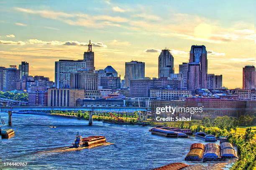
<instances>
[{"instance_id":1,"label":"low, wide pale building with window rows, below the domed-top tower","mask_svg":"<svg viewBox=\"0 0 256 170\"><path fill-rule=\"evenodd\" d=\"M191 94L191 90L150 89L150 97L159 100L174 100L175 98Z\"/></svg>"}]
</instances>

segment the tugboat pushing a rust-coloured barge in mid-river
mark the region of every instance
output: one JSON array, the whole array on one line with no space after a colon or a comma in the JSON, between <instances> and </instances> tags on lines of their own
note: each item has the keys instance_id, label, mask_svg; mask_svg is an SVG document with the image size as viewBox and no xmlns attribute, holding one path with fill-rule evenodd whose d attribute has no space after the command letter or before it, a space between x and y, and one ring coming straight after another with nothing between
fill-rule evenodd
<instances>
[{"instance_id":1,"label":"tugboat pushing a rust-coloured barge in mid-river","mask_svg":"<svg viewBox=\"0 0 256 170\"><path fill-rule=\"evenodd\" d=\"M89 136L88 138L82 138L82 136L77 134L73 143L73 148L87 147L100 143L106 143L106 138L104 136Z\"/></svg>"}]
</instances>

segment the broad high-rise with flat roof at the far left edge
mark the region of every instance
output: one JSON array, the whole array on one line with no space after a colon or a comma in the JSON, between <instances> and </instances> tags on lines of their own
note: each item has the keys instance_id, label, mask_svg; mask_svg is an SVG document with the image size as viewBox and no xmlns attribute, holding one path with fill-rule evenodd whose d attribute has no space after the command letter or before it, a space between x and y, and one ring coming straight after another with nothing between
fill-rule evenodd
<instances>
[{"instance_id":1,"label":"broad high-rise with flat roof at the far left edge","mask_svg":"<svg viewBox=\"0 0 256 170\"><path fill-rule=\"evenodd\" d=\"M3 70L3 91L20 90L20 70L16 67Z\"/></svg>"}]
</instances>

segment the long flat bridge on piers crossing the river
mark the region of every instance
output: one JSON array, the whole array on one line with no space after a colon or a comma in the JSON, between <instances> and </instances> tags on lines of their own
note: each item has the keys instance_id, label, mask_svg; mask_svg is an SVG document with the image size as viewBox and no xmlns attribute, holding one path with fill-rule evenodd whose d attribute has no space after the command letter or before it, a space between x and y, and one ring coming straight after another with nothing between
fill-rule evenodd
<instances>
[{"instance_id":1,"label":"long flat bridge on piers crossing the river","mask_svg":"<svg viewBox=\"0 0 256 170\"><path fill-rule=\"evenodd\" d=\"M143 120L146 120L148 107L36 107L36 106L20 106L20 107L1 107L1 111L87 111L89 114L89 124L92 125L92 115L94 112L141 112Z\"/></svg>"}]
</instances>

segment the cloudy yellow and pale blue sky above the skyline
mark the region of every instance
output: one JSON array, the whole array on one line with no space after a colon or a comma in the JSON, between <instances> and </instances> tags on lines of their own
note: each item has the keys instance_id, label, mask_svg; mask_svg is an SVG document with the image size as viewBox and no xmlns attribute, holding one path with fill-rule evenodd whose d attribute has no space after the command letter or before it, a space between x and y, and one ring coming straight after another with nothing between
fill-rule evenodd
<instances>
[{"instance_id":1,"label":"cloudy yellow and pale blue sky above the skyline","mask_svg":"<svg viewBox=\"0 0 256 170\"><path fill-rule=\"evenodd\" d=\"M255 0L1 0L0 66L27 61L30 75L54 80L54 62L83 59L92 41L95 69L108 65L123 79L125 62L145 62L158 77L167 47L175 73L191 45L205 45L208 73L223 86L242 87L242 70L255 65Z\"/></svg>"}]
</instances>

